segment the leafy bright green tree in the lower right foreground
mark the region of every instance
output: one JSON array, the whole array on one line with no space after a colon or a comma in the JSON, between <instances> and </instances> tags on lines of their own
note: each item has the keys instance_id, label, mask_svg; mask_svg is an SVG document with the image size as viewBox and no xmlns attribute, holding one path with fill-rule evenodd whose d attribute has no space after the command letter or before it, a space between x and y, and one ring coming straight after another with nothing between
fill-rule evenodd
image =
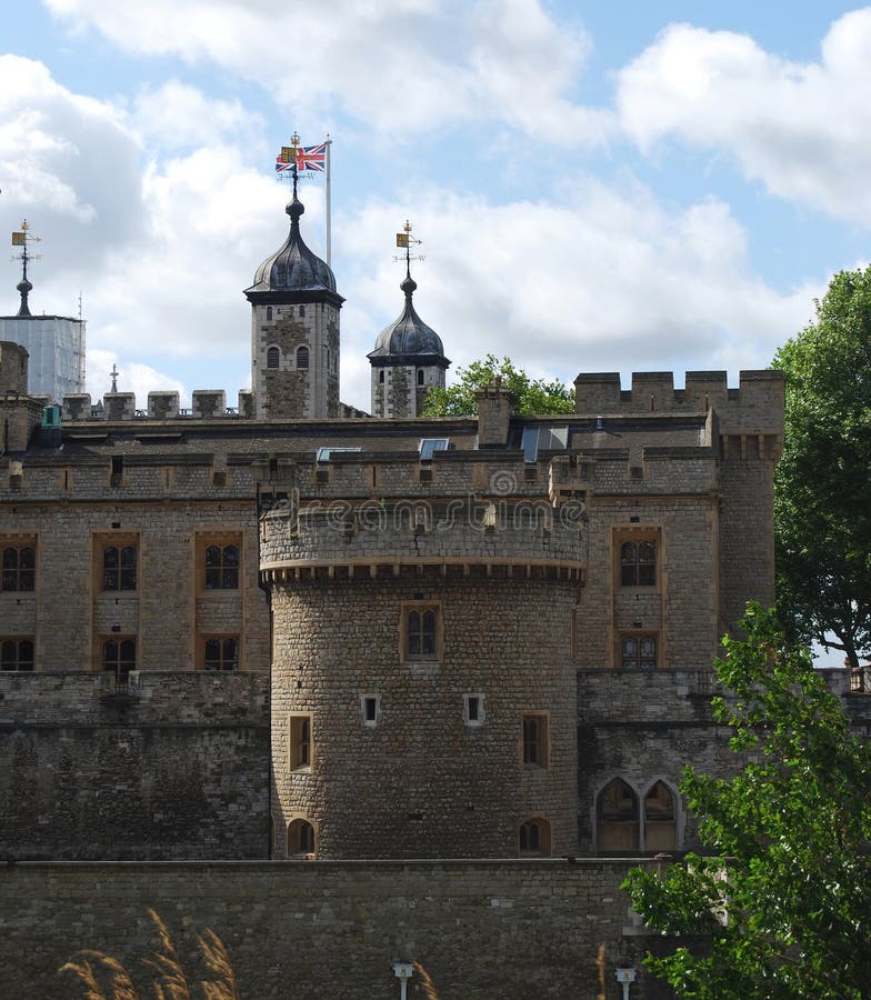
<instances>
[{"instance_id":1,"label":"leafy bright green tree in the lower right foreground","mask_svg":"<svg viewBox=\"0 0 871 1000\"><path fill-rule=\"evenodd\" d=\"M742 624L715 662L732 694L713 707L744 766L681 783L711 853L624 883L649 928L690 938L645 963L679 997L868 997L871 743L773 612L750 604Z\"/></svg>"}]
</instances>

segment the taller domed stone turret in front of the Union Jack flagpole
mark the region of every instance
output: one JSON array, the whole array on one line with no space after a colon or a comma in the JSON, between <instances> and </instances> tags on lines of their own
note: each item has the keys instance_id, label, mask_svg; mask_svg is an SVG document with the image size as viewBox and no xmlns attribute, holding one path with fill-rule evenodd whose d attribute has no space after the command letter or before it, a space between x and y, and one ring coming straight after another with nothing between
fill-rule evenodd
<instances>
[{"instance_id":1,"label":"taller domed stone turret in front of the Union Jack flagpole","mask_svg":"<svg viewBox=\"0 0 871 1000\"><path fill-rule=\"evenodd\" d=\"M288 203L290 233L257 269L251 302L251 390L258 419L339 416L339 310L336 276L306 246L297 198Z\"/></svg>"}]
</instances>

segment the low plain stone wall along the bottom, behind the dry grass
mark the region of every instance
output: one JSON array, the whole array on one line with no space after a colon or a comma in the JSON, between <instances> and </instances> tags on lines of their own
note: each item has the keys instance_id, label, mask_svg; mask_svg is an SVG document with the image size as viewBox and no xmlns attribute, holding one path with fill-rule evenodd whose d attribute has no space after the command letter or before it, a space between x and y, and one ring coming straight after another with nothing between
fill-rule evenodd
<instances>
[{"instance_id":1,"label":"low plain stone wall along the bottom, behind the dry grass","mask_svg":"<svg viewBox=\"0 0 871 1000\"><path fill-rule=\"evenodd\" d=\"M149 980L167 921L191 980L196 934L228 948L246 1000L383 1000L396 961L418 961L440 1000L604 996L634 967L633 1000L669 996L640 964L655 943L628 914L625 861L19 864L0 871L0 991L61 1000L81 987L58 968L99 949ZM600 987L595 961L604 964ZM419 973L409 997L423 996Z\"/></svg>"}]
</instances>

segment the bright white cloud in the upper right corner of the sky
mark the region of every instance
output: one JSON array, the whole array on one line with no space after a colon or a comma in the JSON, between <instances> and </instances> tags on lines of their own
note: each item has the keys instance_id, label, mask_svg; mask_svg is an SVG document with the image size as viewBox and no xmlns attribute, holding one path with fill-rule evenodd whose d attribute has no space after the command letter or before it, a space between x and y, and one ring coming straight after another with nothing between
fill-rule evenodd
<instances>
[{"instance_id":1,"label":"bright white cloud in the upper right corner of the sky","mask_svg":"<svg viewBox=\"0 0 871 1000\"><path fill-rule=\"evenodd\" d=\"M733 157L779 197L869 226L869 88L871 8L837 20L808 63L675 24L619 73L617 111L645 151L677 137Z\"/></svg>"}]
</instances>

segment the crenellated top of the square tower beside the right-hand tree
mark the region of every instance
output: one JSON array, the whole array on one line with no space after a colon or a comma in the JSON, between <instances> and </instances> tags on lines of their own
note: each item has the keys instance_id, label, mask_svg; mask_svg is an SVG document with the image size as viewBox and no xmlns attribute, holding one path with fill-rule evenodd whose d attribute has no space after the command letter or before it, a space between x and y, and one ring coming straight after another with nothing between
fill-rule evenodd
<instances>
[{"instance_id":1,"label":"crenellated top of the square tower beside the right-hand tree","mask_svg":"<svg viewBox=\"0 0 871 1000\"><path fill-rule=\"evenodd\" d=\"M578 413L715 410L722 433L782 430L783 390L783 374L773 369L742 371L738 389L729 388L724 371L688 371L683 389L674 388L670 371L633 372L629 390L618 372L582 372L574 380Z\"/></svg>"}]
</instances>

